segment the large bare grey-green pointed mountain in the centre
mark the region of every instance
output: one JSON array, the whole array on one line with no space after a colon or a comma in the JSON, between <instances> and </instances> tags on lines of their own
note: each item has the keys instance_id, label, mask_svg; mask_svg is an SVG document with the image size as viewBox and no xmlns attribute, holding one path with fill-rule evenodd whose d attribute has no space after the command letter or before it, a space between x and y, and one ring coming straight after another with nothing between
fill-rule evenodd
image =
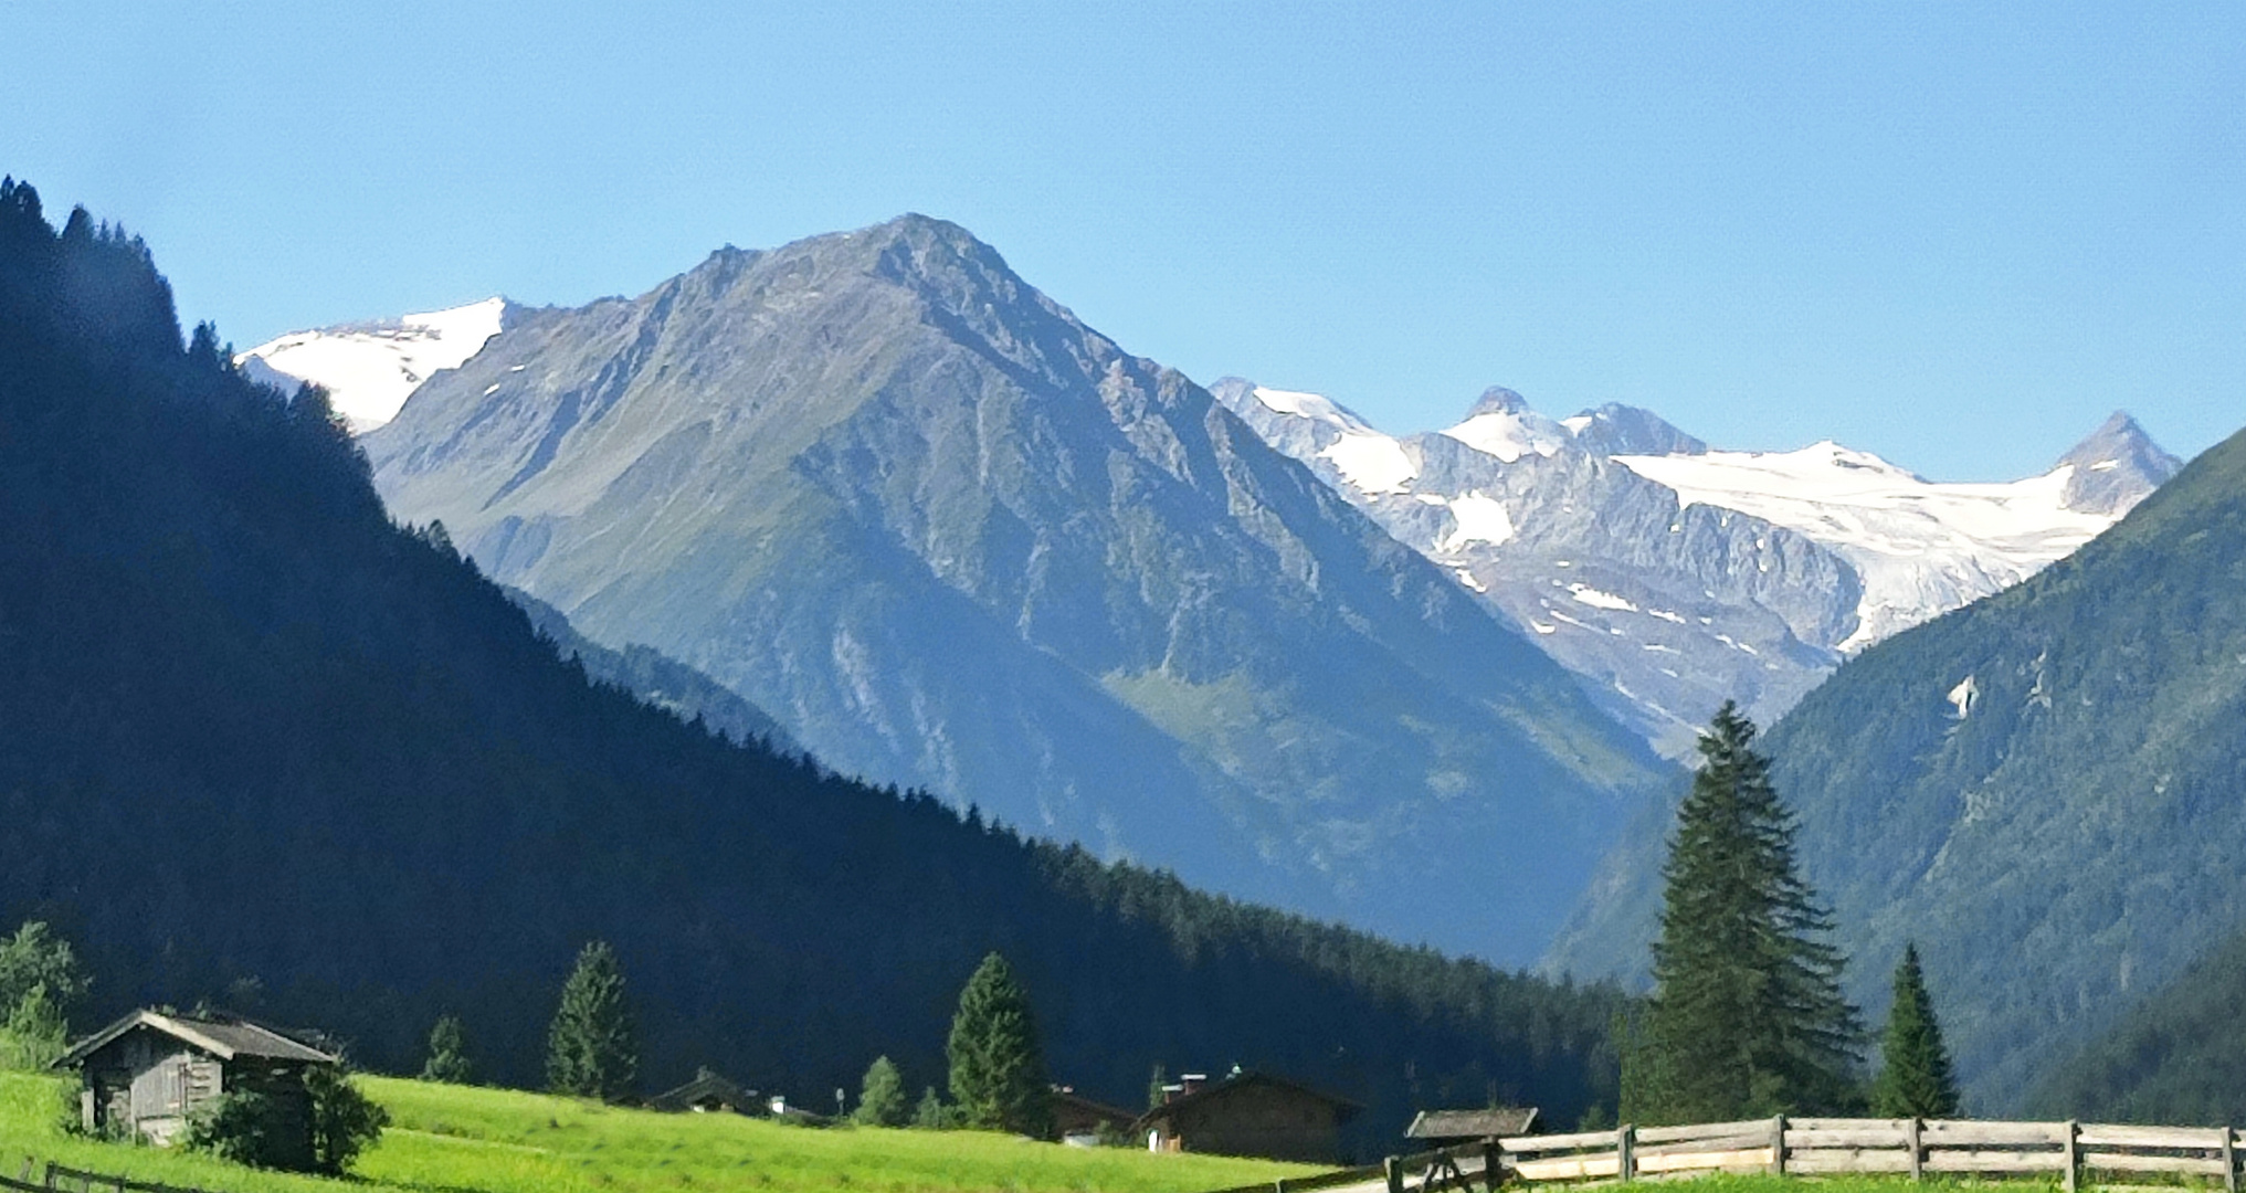
<instances>
[{"instance_id":1,"label":"large bare grey-green pointed mountain in the centre","mask_svg":"<svg viewBox=\"0 0 2246 1193\"><path fill-rule=\"evenodd\" d=\"M1408 939L1532 957L1664 775L1471 593L939 220L521 310L362 443L398 517L829 766Z\"/></svg>"}]
</instances>

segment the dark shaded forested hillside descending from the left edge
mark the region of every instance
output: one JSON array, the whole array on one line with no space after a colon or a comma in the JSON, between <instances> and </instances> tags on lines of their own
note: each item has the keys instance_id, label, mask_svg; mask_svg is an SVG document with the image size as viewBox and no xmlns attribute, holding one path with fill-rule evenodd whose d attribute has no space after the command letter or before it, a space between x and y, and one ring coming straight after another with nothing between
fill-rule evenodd
<instances>
[{"instance_id":1,"label":"dark shaded forested hillside descending from the left edge","mask_svg":"<svg viewBox=\"0 0 2246 1193\"><path fill-rule=\"evenodd\" d=\"M317 391L182 348L148 252L0 189L0 914L94 1011L213 1000L418 1065L440 1011L532 1083L577 946L615 944L642 1081L939 1083L986 950L1053 1074L1154 1063L1370 1103L1610 1099L1613 991L1195 894L734 746L593 685L438 535L398 528ZM1408 876L1399 876L1408 881Z\"/></svg>"}]
</instances>

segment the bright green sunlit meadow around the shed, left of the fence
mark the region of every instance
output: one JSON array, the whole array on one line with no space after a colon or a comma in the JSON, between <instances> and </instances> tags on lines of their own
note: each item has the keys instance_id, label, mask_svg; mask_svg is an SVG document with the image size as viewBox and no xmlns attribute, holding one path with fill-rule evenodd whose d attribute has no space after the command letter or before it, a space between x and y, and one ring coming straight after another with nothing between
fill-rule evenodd
<instances>
[{"instance_id":1,"label":"bright green sunlit meadow around the shed, left of the fence","mask_svg":"<svg viewBox=\"0 0 2246 1193\"><path fill-rule=\"evenodd\" d=\"M1195 1193L1312 1168L1132 1148L1065 1148L990 1132L811 1130L737 1114L654 1114L512 1090L362 1078L391 1130L348 1182L256 1173L211 1157L76 1139L76 1085L0 1074L0 1173L25 1159L211 1193Z\"/></svg>"}]
</instances>

